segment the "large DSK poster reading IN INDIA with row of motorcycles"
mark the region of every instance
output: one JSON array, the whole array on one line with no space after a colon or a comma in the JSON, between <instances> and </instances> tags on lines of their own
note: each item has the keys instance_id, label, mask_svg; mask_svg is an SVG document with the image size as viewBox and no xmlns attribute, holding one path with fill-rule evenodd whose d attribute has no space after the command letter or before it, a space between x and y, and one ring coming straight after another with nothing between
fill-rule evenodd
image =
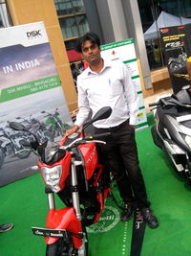
<instances>
[{"instance_id":1,"label":"large DSK poster reading IN INDIA with row of motorcycles","mask_svg":"<svg viewBox=\"0 0 191 256\"><path fill-rule=\"evenodd\" d=\"M54 143L72 125L43 22L0 30L0 186L32 175L36 156L25 151L32 135ZM33 168L34 169L34 168Z\"/></svg>"}]
</instances>

